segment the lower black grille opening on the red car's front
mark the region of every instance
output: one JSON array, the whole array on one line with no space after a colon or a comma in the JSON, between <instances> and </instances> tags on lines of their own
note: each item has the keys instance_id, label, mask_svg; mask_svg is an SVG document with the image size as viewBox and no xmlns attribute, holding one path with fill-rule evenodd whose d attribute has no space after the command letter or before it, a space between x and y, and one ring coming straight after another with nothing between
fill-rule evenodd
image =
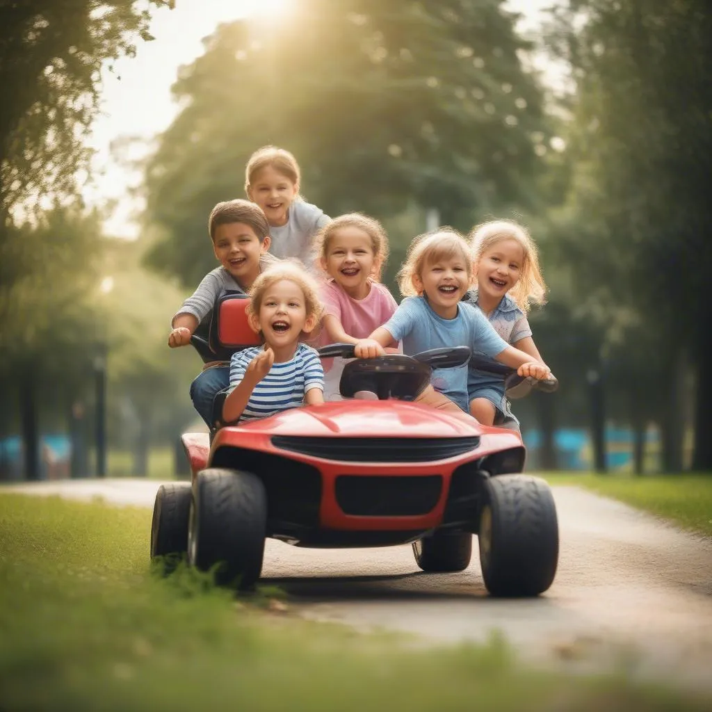
<instances>
[{"instance_id":1,"label":"lower black grille opening on the red car's front","mask_svg":"<svg viewBox=\"0 0 712 712\"><path fill-rule=\"evenodd\" d=\"M403 517L432 511L442 486L440 475L339 475L335 494L345 514Z\"/></svg>"}]
</instances>

